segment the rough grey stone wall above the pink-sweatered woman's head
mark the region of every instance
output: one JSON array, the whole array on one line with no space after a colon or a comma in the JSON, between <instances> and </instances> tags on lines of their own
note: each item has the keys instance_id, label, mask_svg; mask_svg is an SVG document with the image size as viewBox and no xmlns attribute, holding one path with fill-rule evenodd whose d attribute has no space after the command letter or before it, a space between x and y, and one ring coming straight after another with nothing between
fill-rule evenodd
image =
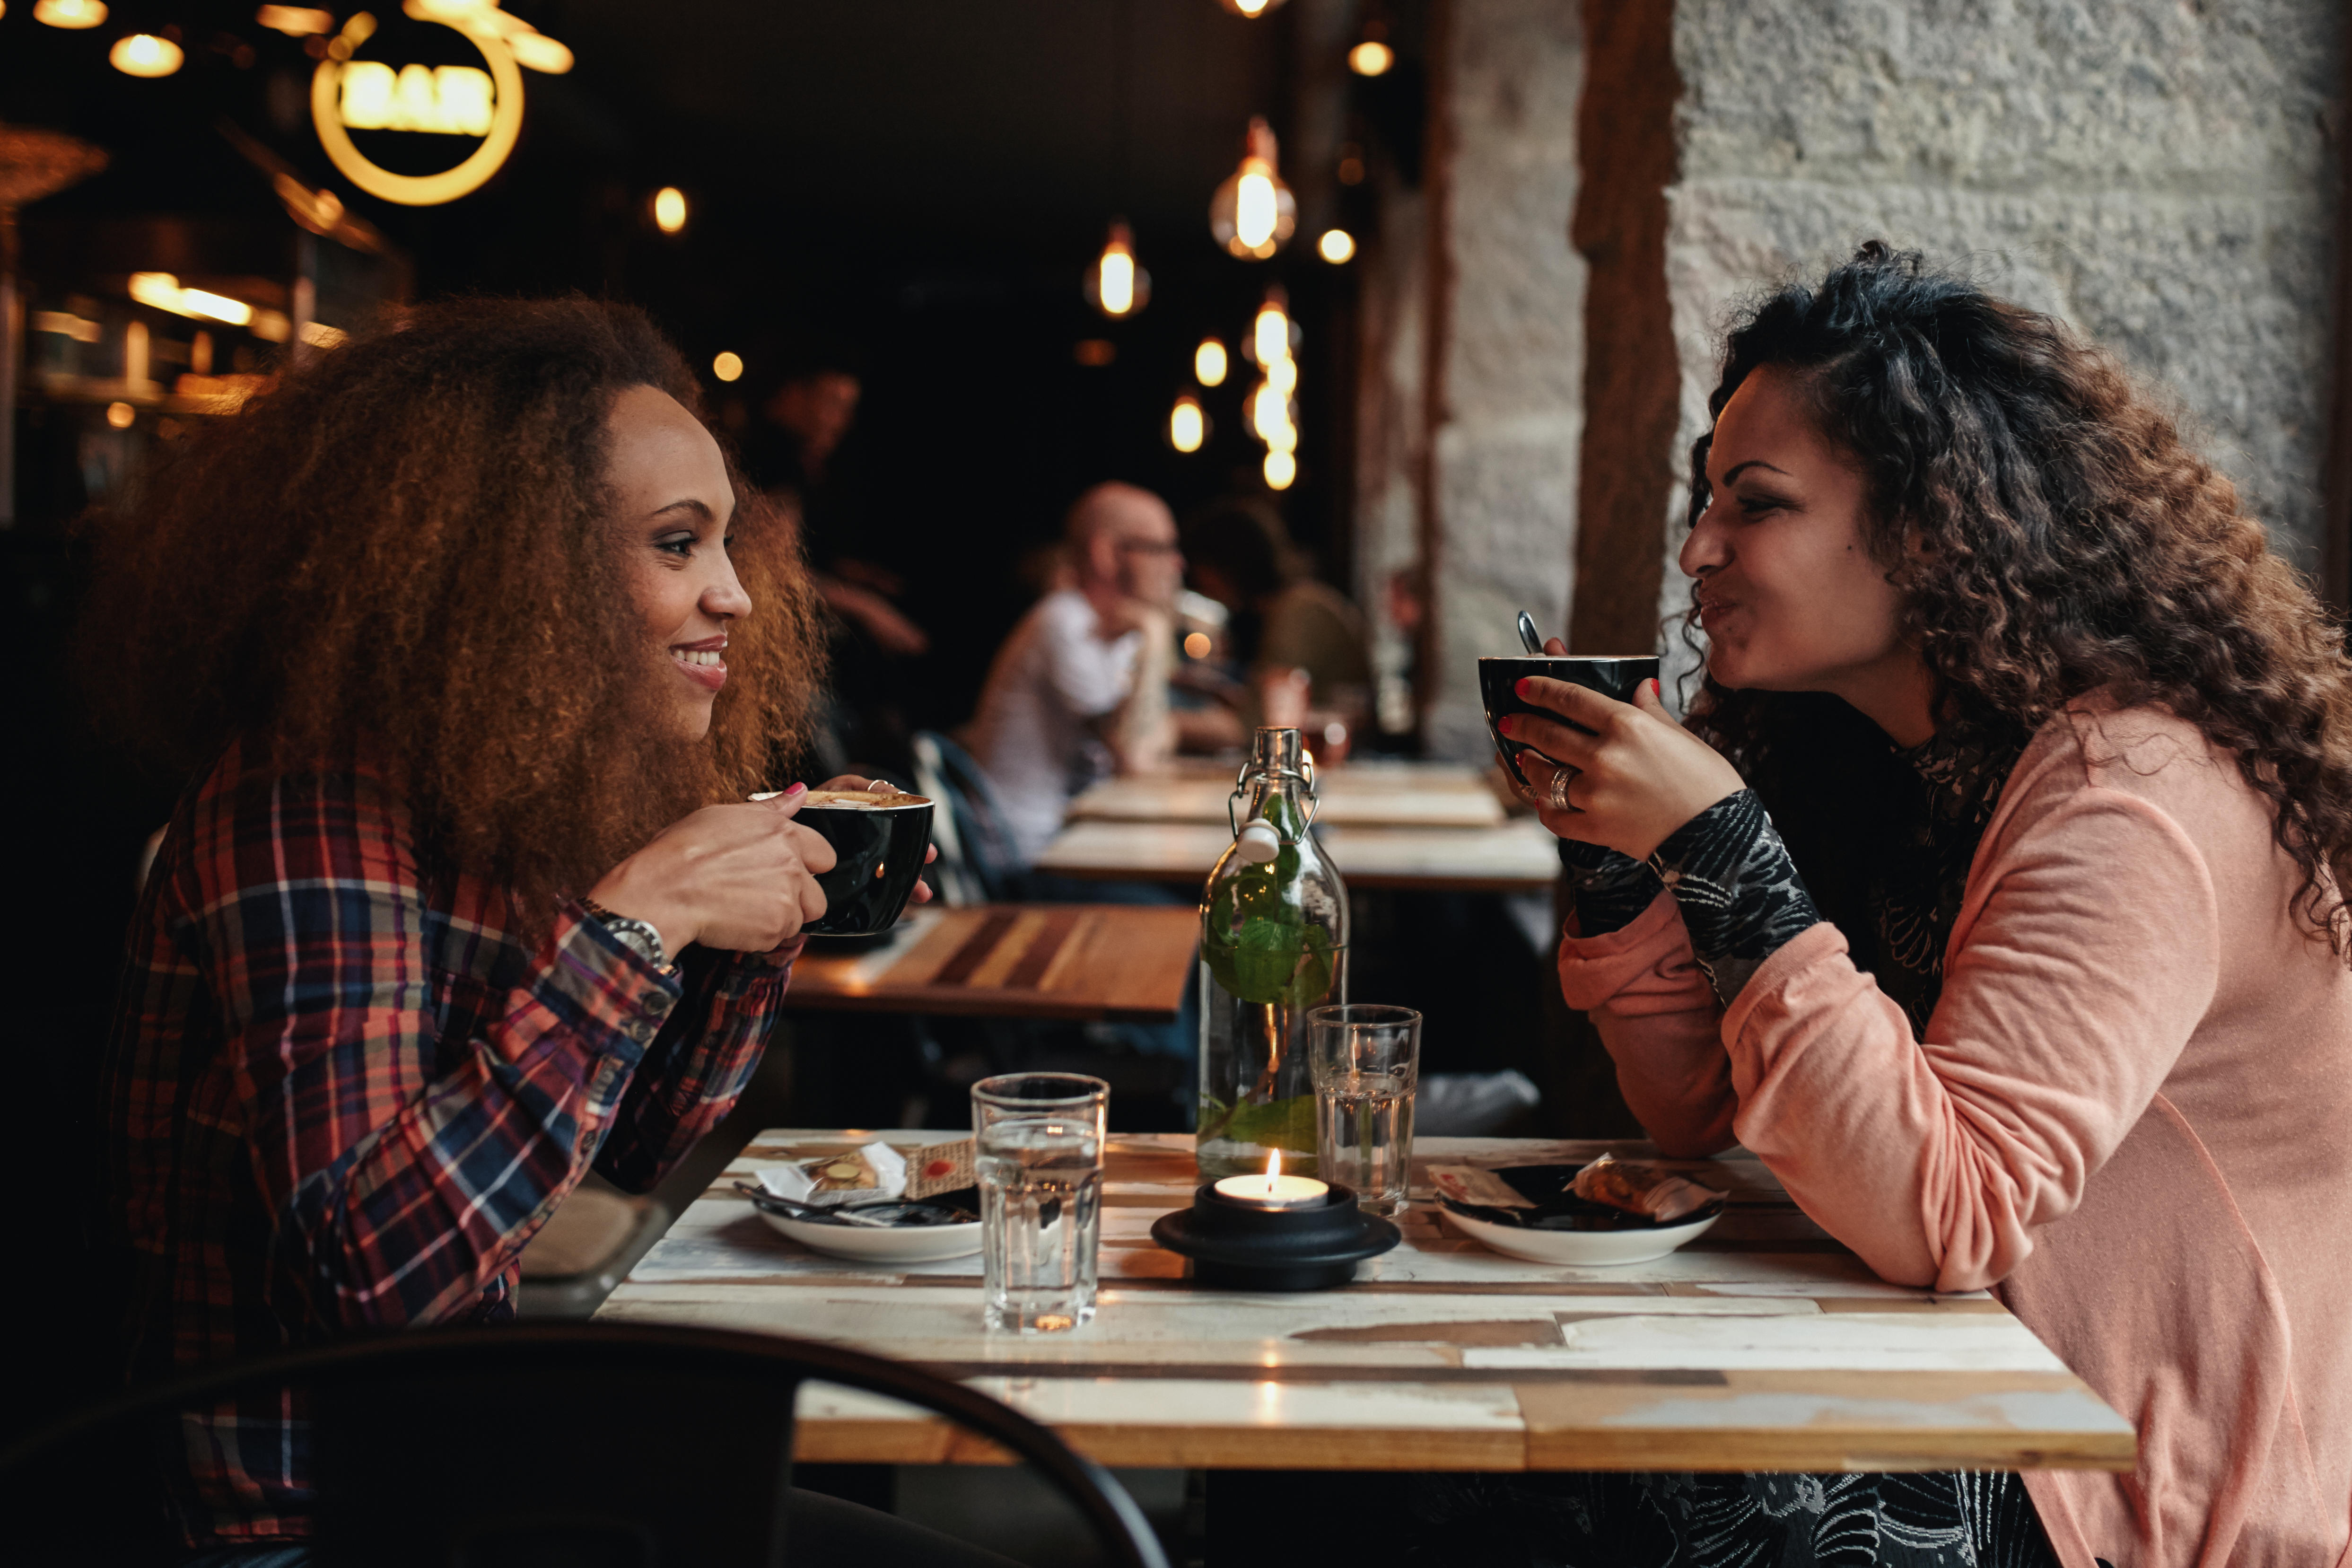
<instances>
[{"instance_id":1,"label":"rough grey stone wall above the pink-sweatered woman's head","mask_svg":"<svg viewBox=\"0 0 2352 1568\"><path fill-rule=\"evenodd\" d=\"M1679 0L1677 444L1705 423L1726 301L1884 237L2171 388L2277 548L2317 569L2345 9ZM1663 607L1684 590L1668 569Z\"/></svg>"}]
</instances>

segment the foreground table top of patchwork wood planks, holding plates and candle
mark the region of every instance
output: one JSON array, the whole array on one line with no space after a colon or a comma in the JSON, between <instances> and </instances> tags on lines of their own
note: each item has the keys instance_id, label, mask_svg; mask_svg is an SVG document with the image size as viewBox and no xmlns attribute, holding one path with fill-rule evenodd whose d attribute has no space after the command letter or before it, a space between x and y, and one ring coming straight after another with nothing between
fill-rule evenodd
<instances>
[{"instance_id":1,"label":"foreground table top of patchwork wood planks, holding plates and candle","mask_svg":"<svg viewBox=\"0 0 2352 1568\"><path fill-rule=\"evenodd\" d=\"M1150 1222L1192 1199L1185 1135L1112 1140L1103 1288L1068 1335L981 1331L978 1258L887 1272L771 1232L727 1185L847 1147L771 1131L597 1316L837 1340L924 1363L1103 1465L1183 1469L2131 1469L2131 1427L1985 1293L1889 1286L1750 1157L1691 1161L1731 1213L1658 1262L1517 1262L1444 1232L1343 1291L1195 1288ZM884 1133L906 1145L950 1133ZM1583 1161L1644 1145L1430 1138L1425 1159ZM1416 1197L1425 1187L1416 1182ZM906 1406L807 1387L804 1460L1000 1455Z\"/></svg>"}]
</instances>

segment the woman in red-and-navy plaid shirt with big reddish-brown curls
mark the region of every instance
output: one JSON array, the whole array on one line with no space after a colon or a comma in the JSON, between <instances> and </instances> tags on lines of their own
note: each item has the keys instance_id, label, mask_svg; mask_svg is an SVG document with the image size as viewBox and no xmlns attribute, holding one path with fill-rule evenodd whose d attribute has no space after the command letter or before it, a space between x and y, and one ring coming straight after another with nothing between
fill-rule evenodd
<instances>
[{"instance_id":1,"label":"woman in red-and-navy plaid shirt with big reddish-brown curls","mask_svg":"<svg viewBox=\"0 0 2352 1568\"><path fill-rule=\"evenodd\" d=\"M106 1051L132 1378L508 1319L590 1166L642 1192L741 1095L833 867L746 795L823 644L694 409L635 310L433 306L101 524L101 689L193 778ZM308 1561L296 1396L174 1432L188 1561Z\"/></svg>"}]
</instances>

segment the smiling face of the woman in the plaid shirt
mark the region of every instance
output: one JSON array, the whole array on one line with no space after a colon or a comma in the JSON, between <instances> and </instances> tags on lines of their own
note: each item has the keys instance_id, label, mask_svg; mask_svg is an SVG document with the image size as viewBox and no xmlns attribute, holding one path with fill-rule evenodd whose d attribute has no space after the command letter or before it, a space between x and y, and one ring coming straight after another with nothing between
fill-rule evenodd
<instances>
[{"instance_id":1,"label":"smiling face of the woman in the plaid shirt","mask_svg":"<svg viewBox=\"0 0 2352 1568\"><path fill-rule=\"evenodd\" d=\"M750 595L727 559L734 487L717 442L668 393L633 386L604 416L604 482L619 503L630 588L680 741L710 733L727 684L727 625Z\"/></svg>"}]
</instances>

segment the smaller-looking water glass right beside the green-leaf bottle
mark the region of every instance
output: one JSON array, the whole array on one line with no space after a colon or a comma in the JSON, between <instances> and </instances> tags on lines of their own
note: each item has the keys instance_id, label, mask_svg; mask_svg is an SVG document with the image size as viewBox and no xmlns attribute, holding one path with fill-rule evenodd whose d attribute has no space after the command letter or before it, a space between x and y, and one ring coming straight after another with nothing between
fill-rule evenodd
<instances>
[{"instance_id":1,"label":"smaller-looking water glass right beside the green-leaf bottle","mask_svg":"<svg viewBox=\"0 0 2352 1568\"><path fill-rule=\"evenodd\" d=\"M1308 1013L1315 1077L1315 1168L1355 1187L1367 1213L1397 1213L1414 1175L1414 1086L1421 1013L1409 1006L1319 1006Z\"/></svg>"}]
</instances>

